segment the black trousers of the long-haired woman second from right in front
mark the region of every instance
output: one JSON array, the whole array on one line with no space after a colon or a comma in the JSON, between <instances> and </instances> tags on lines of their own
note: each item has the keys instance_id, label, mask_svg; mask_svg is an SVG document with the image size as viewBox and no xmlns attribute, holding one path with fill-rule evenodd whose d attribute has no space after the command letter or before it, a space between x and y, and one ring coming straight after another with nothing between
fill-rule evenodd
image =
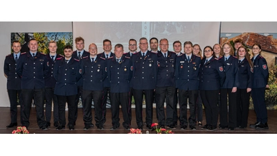
<instances>
[{"instance_id":1,"label":"black trousers of the long-haired woman second from right in front","mask_svg":"<svg viewBox=\"0 0 277 156\"><path fill-rule=\"evenodd\" d=\"M250 92L247 89L237 90L237 128L247 128Z\"/></svg>"}]
</instances>

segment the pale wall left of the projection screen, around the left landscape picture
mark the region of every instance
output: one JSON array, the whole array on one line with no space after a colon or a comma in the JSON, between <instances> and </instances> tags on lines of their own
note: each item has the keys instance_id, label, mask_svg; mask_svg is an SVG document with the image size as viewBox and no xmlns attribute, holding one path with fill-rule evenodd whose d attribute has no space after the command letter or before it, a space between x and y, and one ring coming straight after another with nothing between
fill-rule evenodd
<instances>
[{"instance_id":1,"label":"pale wall left of the projection screen, around the left landscape picture","mask_svg":"<svg viewBox=\"0 0 277 156\"><path fill-rule=\"evenodd\" d=\"M11 51L10 33L72 32L71 21L1 21L0 22L0 107L9 107L7 80L3 73L3 64ZM21 51L23 52L23 51Z\"/></svg>"}]
</instances>

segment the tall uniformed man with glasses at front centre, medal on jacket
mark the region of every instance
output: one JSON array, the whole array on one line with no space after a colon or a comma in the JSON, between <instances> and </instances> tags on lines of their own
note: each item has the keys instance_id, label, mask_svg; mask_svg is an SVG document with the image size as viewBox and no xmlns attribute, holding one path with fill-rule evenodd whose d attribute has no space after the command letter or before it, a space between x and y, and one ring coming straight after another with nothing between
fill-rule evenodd
<instances>
[{"instance_id":1,"label":"tall uniformed man with glasses at front centre, medal on jacket","mask_svg":"<svg viewBox=\"0 0 277 156\"><path fill-rule=\"evenodd\" d=\"M143 129L143 94L145 95L146 126L152 129L154 89L157 83L157 54L148 51L148 40L141 37L138 53L132 55L132 87L136 105L136 124Z\"/></svg>"}]
</instances>

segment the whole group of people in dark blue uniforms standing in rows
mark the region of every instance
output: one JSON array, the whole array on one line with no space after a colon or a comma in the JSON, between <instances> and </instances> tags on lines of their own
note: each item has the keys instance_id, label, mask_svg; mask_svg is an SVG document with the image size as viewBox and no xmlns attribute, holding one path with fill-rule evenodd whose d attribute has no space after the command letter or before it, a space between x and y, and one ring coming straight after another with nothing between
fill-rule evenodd
<instances>
[{"instance_id":1,"label":"whole group of people in dark blue uniforms standing in rows","mask_svg":"<svg viewBox=\"0 0 277 156\"><path fill-rule=\"evenodd\" d=\"M148 50L148 44L151 50ZM12 42L13 53L7 55L4 62L11 117L7 128L17 125L18 103L21 125L28 128L30 107L34 101L40 129L47 130L51 126L52 103L53 125L56 130L65 129L67 103L67 125L69 130L74 130L81 98L84 130L94 126L92 102L96 127L104 130L109 97L110 130L120 126L120 110L123 113L122 125L129 130L134 97L136 125L141 130L144 125L152 129L153 103L156 103L156 117L161 128L175 129L179 121L181 130L196 130L197 123L204 130L215 130L219 116L219 128L235 130L247 128L252 95L257 121L249 126L268 129L265 88L268 87L269 73L267 62L260 55L260 44L253 45L252 59L242 40L235 40L235 49L230 43L206 46L204 55L199 44L184 42L183 52L181 42L175 41L174 51L169 51L168 40L158 41L156 37L152 37L149 43L147 38L141 37L139 52L134 39L129 40L127 53L124 53L123 44L116 44L112 53L111 41L107 39L103 40L102 53L98 53L94 43L89 44L89 51L84 51L82 37L75 38L75 46L76 51L70 45L64 46L64 55L59 55L57 43L51 41L48 43L49 53L43 54L37 51L37 40L32 39L28 43L30 51L21 53L20 42ZM202 105L206 115L203 126Z\"/></svg>"}]
</instances>

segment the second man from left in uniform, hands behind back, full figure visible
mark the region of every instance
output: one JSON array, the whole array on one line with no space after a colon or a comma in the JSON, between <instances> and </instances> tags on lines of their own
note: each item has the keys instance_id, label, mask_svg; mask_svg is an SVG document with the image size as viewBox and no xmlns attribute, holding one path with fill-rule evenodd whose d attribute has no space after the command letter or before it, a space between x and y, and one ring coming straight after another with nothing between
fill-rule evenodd
<instances>
[{"instance_id":1,"label":"second man from left in uniform, hands behind back, full figure visible","mask_svg":"<svg viewBox=\"0 0 277 156\"><path fill-rule=\"evenodd\" d=\"M30 51L21 54L17 63L17 74L21 78L21 96L23 100L22 125L29 127L30 107L35 101L37 112L37 125L42 130L47 130L44 119L44 78L48 73L48 62L43 53L37 51L37 40L31 39L28 43Z\"/></svg>"}]
</instances>

